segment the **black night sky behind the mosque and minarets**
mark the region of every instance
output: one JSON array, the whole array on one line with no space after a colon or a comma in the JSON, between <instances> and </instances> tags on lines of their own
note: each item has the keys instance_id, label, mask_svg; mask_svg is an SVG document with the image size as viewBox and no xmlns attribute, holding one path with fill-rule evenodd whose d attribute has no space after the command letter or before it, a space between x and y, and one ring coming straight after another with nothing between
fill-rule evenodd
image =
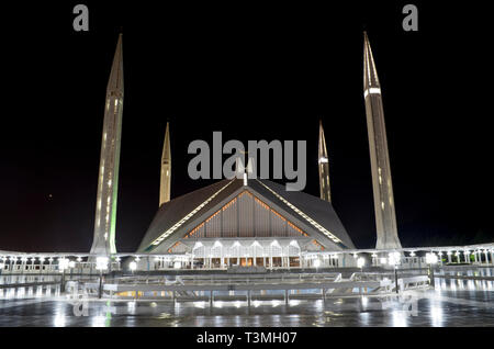
<instances>
[{"instance_id":1,"label":"black night sky behind the mosque and minarets","mask_svg":"<svg viewBox=\"0 0 494 349\"><path fill-rule=\"evenodd\" d=\"M80 2L89 7L89 32L72 30ZM100 2L2 4L0 250L89 251L105 89L121 30L119 251L137 248L158 209L167 119L172 198L213 182L187 173L189 143L211 144L213 131L245 144L305 139L305 192L318 195L322 119L335 210L357 247L374 247L363 30L383 91L402 245L494 239L486 11L414 1L419 30L404 32L409 1Z\"/></svg>"}]
</instances>

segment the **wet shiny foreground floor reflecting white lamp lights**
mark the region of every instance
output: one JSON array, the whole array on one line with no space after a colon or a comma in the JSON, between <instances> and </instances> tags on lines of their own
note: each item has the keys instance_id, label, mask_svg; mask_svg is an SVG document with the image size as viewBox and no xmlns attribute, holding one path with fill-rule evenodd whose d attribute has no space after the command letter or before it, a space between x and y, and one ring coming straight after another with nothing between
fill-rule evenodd
<instances>
[{"instance_id":1,"label":"wet shiny foreground floor reflecting white lamp lights","mask_svg":"<svg viewBox=\"0 0 494 349\"><path fill-rule=\"evenodd\" d=\"M0 326L494 326L494 281L436 279L401 295L221 302L70 300L0 290ZM76 316L79 315L79 316ZM87 316L85 316L87 315Z\"/></svg>"}]
</instances>

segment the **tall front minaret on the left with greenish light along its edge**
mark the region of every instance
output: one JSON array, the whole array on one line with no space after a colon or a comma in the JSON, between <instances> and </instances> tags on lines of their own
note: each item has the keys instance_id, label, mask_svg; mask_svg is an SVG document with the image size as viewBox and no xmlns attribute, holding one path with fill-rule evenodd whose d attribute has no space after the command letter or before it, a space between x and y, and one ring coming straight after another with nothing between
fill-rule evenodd
<instances>
[{"instance_id":1,"label":"tall front minaret on the left with greenish light along its edge","mask_svg":"<svg viewBox=\"0 0 494 349\"><path fill-rule=\"evenodd\" d=\"M91 247L91 254L102 256L116 252L115 225L123 97L122 34L120 34L106 87L94 237Z\"/></svg>"}]
</instances>

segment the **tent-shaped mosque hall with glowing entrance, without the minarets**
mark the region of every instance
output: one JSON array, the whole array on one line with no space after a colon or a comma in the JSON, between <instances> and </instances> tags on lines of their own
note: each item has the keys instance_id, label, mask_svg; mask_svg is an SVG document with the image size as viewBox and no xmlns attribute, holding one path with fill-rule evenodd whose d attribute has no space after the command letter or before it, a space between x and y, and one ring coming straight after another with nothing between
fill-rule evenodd
<instances>
[{"instance_id":1,"label":"tent-shaped mosque hall with glowing entrance, without the minarets","mask_svg":"<svg viewBox=\"0 0 494 349\"><path fill-rule=\"evenodd\" d=\"M190 269L294 268L308 255L353 248L329 202L235 178L162 204L137 254L182 256ZM345 263L343 257L332 262Z\"/></svg>"}]
</instances>

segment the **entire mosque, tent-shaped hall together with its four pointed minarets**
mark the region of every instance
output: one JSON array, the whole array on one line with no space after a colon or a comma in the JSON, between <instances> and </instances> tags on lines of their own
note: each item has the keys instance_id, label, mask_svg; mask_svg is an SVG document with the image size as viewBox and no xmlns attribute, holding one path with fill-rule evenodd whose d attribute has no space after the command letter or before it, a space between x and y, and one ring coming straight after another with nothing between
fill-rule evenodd
<instances>
[{"instance_id":1,"label":"entire mosque, tent-shaped hall together with its four pointed minarets","mask_svg":"<svg viewBox=\"0 0 494 349\"><path fill-rule=\"evenodd\" d=\"M377 222L377 249L401 248L396 232L388 142L371 47L364 33L363 98ZM123 113L122 35L106 89L103 138L91 255L116 254L115 222ZM330 202L329 161L318 131L321 195L287 191L268 179L237 176L170 198L171 147L167 123L159 209L133 256L138 269L352 267L356 247ZM238 165L238 162L237 162ZM314 164L315 166L315 164ZM242 168L242 173L240 173ZM248 166L247 166L248 168ZM120 254L119 254L120 255Z\"/></svg>"}]
</instances>

